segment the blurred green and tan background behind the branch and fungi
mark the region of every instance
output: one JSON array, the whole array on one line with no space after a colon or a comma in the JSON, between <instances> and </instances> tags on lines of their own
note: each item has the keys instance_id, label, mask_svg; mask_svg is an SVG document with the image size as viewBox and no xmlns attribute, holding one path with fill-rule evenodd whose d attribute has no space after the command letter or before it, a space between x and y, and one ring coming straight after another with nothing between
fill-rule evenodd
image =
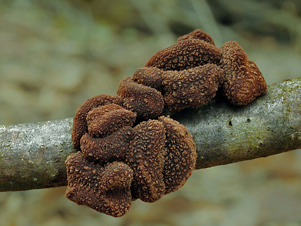
<instances>
[{"instance_id":1,"label":"blurred green and tan background behind the branch and fungi","mask_svg":"<svg viewBox=\"0 0 301 226\"><path fill-rule=\"evenodd\" d=\"M0 124L73 117L197 28L238 41L268 84L301 75L300 0L1 0ZM198 170L118 219L66 187L2 192L0 226L301 226L300 162L299 150Z\"/></svg>"}]
</instances>

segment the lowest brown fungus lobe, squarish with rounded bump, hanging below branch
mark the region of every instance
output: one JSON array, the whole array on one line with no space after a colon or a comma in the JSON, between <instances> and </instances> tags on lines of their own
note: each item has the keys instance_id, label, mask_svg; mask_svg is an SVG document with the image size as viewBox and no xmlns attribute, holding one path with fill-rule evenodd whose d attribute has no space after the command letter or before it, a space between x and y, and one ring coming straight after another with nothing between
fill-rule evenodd
<instances>
[{"instance_id":1,"label":"lowest brown fungus lobe, squarish with rounded bump, hanging below branch","mask_svg":"<svg viewBox=\"0 0 301 226\"><path fill-rule=\"evenodd\" d=\"M78 152L67 157L66 166L68 199L113 217L129 211L133 170L126 164L113 162L102 167Z\"/></svg>"}]
</instances>

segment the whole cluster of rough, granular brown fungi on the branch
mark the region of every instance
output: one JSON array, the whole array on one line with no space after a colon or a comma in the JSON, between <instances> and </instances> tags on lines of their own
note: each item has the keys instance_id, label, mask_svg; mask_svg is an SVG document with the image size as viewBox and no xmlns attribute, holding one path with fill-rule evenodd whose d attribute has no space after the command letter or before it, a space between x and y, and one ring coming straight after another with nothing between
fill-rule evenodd
<instances>
[{"instance_id":1,"label":"whole cluster of rough, granular brown fungi on the branch","mask_svg":"<svg viewBox=\"0 0 301 226\"><path fill-rule=\"evenodd\" d=\"M201 30L184 35L124 78L117 95L88 99L75 114L66 160L66 197L114 217L132 200L155 202L184 185L196 145L184 125L162 115L209 102L220 89L235 105L263 94L266 82L235 41L216 47Z\"/></svg>"}]
</instances>

